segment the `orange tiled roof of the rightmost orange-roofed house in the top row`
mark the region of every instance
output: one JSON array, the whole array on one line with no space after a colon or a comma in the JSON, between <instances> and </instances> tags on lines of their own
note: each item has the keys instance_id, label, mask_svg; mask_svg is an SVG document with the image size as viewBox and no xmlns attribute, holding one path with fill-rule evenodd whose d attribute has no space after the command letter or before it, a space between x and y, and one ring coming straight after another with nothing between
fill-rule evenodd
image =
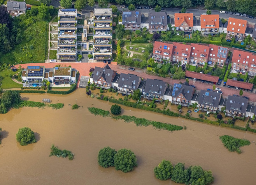
<instances>
[{"instance_id":1,"label":"orange tiled roof of the rightmost orange-roofed house in the top row","mask_svg":"<svg viewBox=\"0 0 256 185\"><path fill-rule=\"evenodd\" d=\"M227 31L245 34L247 21L242 19L228 18Z\"/></svg>"}]
</instances>

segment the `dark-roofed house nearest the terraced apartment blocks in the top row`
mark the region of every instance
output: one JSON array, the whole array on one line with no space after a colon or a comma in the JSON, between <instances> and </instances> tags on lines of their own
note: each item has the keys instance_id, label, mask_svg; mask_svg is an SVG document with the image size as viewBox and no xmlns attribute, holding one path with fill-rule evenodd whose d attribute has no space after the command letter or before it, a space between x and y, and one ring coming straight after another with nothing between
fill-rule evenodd
<instances>
[{"instance_id":1,"label":"dark-roofed house nearest the terraced apartment blocks in the top row","mask_svg":"<svg viewBox=\"0 0 256 185\"><path fill-rule=\"evenodd\" d=\"M124 30L140 30L140 22L140 11L123 11L122 24L124 25Z\"/></svg>"}]
</instances>

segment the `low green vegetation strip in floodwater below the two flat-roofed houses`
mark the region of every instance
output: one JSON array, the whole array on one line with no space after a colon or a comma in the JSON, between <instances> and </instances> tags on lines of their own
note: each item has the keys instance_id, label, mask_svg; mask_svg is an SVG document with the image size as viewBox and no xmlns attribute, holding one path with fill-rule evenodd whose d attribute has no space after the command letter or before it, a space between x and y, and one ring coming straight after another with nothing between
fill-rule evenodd
<instances>
[{"instance_id":1,"label":"low green vegetation strip in floodwater below the two flat-roofed houses","mask_svg":"<svg viewBox=\"0 0 256 185\"><path fill-rule=\"evenodd\" d=\"M22 107L38 107L38 108L44 108L46 106L51 107L53 109L60 109L63 108L63 103L51 103L49 105L37 101L21 101L19 104L14 105L14 108L22 108Z\"/></svg>"}]
</instances>

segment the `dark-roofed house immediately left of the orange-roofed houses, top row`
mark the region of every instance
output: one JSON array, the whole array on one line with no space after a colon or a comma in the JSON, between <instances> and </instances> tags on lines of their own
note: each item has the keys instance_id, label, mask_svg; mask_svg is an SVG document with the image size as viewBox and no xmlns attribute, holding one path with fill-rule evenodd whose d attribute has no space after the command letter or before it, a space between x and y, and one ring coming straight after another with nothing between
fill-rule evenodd
<instances>
[{"instance_id":1,"label":"dark-roofed house immediately left of the orange-roofed houses, top row","mask_svg":"<svg viewBox=\"0 0 256 185\"><path fill-rule=\"evenodd\" d=\"M167 13L149 12L149 31L167 31Z\"/></svg>"}]
</instances>

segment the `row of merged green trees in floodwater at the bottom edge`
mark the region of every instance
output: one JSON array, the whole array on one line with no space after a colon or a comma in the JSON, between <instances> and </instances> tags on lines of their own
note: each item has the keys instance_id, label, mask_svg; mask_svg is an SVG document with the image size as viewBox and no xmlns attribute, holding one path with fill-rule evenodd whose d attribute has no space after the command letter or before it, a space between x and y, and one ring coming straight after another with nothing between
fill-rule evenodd
<instances>
[{"instance_id":1,"label":"row of merged green trees in floodwater at the bottom edge","mask_svg":"<svg viewBox=\"0 0 256 185\"><path fill-rule=\"evenodd\" d=\"M154 168L154 175L160 180L171 179L175 183L208 185L214 181L211 171L204 171L201 166L190 166L177 163L173 168L170 161L163 160Z\"/></svg>"}]
</instances>

